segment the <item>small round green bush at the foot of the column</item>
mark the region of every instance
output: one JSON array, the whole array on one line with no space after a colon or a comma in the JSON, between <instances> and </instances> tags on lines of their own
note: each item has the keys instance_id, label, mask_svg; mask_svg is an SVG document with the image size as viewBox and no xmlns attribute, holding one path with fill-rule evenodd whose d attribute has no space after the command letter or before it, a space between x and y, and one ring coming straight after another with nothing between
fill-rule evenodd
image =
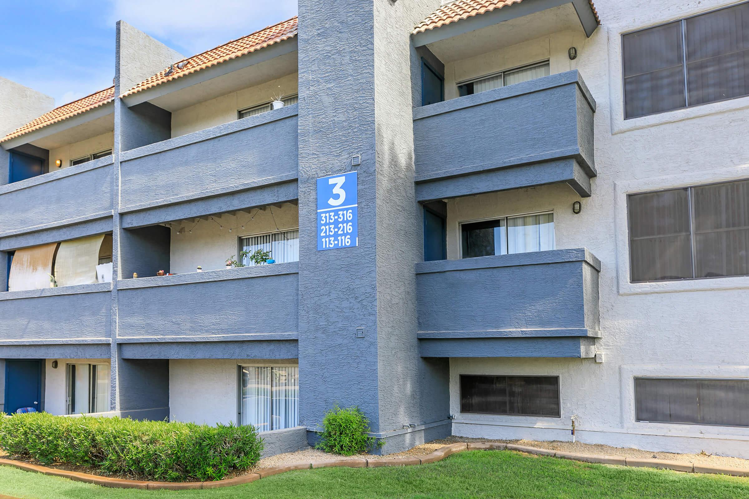
<instances>
[{"instance_id":1,"label":"small round green bush at the foot of the column","mask_svg":"<svg viewBox=\"0 0 749 499\"><path fill-rule=\"evenodd\" d=\"M325 452L354 456L382 447L384 442L367 435L369 419L358 407L340 408L336 405L323 419L323 432L315 446Z\"/></svg>"}]
</instances>

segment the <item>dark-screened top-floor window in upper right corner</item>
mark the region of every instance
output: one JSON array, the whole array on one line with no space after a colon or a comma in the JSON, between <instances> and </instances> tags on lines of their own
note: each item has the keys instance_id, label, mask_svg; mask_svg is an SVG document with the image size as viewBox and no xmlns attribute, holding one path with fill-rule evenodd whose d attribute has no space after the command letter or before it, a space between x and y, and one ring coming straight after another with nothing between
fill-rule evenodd
<instances>
[{"instance_id":1,"label":"dark-screened top-floor window in upper right corner","mask_svg":"<svg viewBox=\"0 0 749 499\"><path fill-rule=\"evenodd\" d=\"M749 95L749 2L622 35L625 119Z\"/></svg>"}]
</instances>

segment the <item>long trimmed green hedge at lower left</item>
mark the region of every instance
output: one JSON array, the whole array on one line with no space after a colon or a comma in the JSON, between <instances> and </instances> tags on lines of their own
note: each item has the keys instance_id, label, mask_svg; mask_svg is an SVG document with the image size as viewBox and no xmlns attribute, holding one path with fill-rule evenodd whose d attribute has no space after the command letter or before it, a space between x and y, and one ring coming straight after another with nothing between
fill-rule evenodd
<instances>
[{"instance_id":1,"label":"long trimmed green hedge at lower left","mask_svg":"<svg viewBox=\"0 0 749 499\"><path fill-rule=\"evenodd\" d=\"M207 426L120 417L0 416L0 447L44 465L94 466L146 480L220 480L260 459L253 426Z\"/></svg>"}]
</instances>

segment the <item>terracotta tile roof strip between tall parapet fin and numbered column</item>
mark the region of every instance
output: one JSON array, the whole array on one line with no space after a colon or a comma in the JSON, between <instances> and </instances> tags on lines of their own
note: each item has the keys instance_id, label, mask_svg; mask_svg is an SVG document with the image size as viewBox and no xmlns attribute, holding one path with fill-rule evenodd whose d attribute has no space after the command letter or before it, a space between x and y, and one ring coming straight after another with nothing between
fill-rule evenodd
<instances>
[{"instance_id":1,"label":"terracotta tile roof strip between tall parapet fin and numbered column","mask_svg":"<svg viewBox=\"0 0 749 499\"><path fill-rule=\"evenodd\" d=\"M287 21L263 28L260 31L255 31L255 33L248 34L246 37L241 37L237 40L232 40L231 42L219 45L215 49L210 49L201 54L193 55L192 57L178 61L175 64L172 64L172 66L156 73L154 76L151 76L151 78L144 82L140 82L120 97L126 97L144 91L147 88L153 88L157 85L171 82L182 76L187 76L197 71L204 70L207 67L215 66L216 64L221 64L222 62L241 57L250 52L264 49L267 46L273 45L273 43L279 43L295 36L297 36L296 16Z\"/></svg>"}]
</instances>

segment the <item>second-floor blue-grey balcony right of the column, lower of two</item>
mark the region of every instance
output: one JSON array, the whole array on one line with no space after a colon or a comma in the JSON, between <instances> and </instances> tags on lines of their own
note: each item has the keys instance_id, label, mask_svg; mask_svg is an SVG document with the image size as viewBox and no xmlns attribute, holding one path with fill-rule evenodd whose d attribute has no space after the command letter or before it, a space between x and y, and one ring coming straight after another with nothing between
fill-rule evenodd
<instances>
[{"instance_id":1,"label":"second-floor blue-grey balcony right of the column, lower of two","mask_svg":"<svg viewBox=\"0 0 749 499\"><path fill-rule=\"evenodd\" d=\"M592 357L600 269L586 248L417 263L421 355Z\"/></svg>"}]
</instances>

